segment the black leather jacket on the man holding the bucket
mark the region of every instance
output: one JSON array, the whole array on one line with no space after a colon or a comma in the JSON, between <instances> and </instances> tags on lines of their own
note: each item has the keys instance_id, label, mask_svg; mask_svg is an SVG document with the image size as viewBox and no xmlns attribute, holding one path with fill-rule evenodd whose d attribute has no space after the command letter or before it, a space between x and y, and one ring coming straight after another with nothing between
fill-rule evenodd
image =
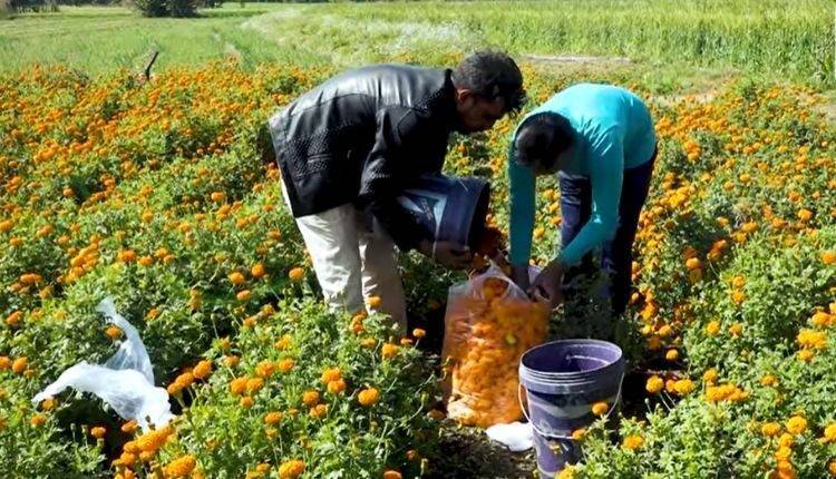
<instances>
[{"instance_id":1,"label":"black leather jacket on the man holding the bucket","mask_svg":"<svg viewBox=\"0 0 836 479\"><path fill-rule=\"evenodd\" d=\"M269 121L293 216L352 203L402 251L426 234L396 197L441 170L457 125L450 70L396 65L331 78Z\"/></svg>"}]
</instances>

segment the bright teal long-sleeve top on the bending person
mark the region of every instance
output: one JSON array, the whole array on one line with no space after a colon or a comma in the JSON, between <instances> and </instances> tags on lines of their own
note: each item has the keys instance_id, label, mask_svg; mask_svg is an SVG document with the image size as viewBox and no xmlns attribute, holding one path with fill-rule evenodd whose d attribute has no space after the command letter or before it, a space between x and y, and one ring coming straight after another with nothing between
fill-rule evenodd
<instances>
[{"instance_id":1,"label":"bright teal long-sleeve top on the bending person","mask_svg":"<svg viewBox=\"0 0 836 479\"><path fill-rule=\"evenodd\" d=\"M571 266L592 248L613 237L624 169L649 162L657 138L644 102L630 91L611 85L574 85L535 108L526 118L546 111L565 117L574 130L574 149L562 170L570 176L587 177L592 186L590 219L557 256L561 264ZM511 262L528 264L536 182L532 169L517 165L514 159L515 138L516 130L512 136L507 162Z\"/></svg>"}]
</instances>

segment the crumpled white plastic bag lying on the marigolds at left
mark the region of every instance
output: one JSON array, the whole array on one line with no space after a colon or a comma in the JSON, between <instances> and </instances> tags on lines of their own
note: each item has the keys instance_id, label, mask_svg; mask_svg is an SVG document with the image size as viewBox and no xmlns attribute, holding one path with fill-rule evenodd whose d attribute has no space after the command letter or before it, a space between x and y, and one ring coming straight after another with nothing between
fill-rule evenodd
<instances>
[{"instance_id":1,"label":"crumpled white plastic bag lying on the marigolds at left","mask_svg":"<svg viewBox=\"0 0 836 479\"><path fill-rule=\"evenodd\" d=\"M174 418L168 403L168 392L154 387L154 370L145 344L136 329L116 312L110 297L96 307L116 324L126 340L104 365L87 361L67 369L43 391L32 398L32 403L54 397L67 388L90 392L99 397L123 419L136 419L143 430L149 424L161 428Z\"/></svg>"}]
</instances>

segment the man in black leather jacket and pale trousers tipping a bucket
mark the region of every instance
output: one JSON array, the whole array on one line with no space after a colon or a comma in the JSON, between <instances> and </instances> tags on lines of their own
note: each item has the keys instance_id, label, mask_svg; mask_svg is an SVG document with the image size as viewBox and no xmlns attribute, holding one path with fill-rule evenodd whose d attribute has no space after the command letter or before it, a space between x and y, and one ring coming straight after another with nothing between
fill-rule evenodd
<instances>
[{"instance_id":1,"label":"man in black leather jacket and pale trousers tipping a bucket","mask_svg":"<svg viewBox=\"0 0 836 479\"><path fill-rule=\"evenodd\" d=\"M480 51L455 70L350 70L270 118L285 201L331 307L356 313L367 302L404 328L393 244L448 267L469 263L465 245L434 242L396 198L441 170L450 133L486 130L524 98L514 60Z\"/></svg>"}]
</instances>

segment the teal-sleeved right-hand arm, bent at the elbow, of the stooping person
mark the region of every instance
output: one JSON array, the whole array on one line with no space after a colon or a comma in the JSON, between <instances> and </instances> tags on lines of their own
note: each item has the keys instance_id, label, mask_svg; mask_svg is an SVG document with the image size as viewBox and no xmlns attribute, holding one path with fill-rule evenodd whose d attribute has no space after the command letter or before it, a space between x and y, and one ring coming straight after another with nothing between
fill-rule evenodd
<instances>
[{"instance_id":1,"label":"teal-sleeved right-hand arm, bent at the elbow, of the stooping person","mask_svg":"<svg viewBox=\"0 0 836 479\"><path fill-rule=\"evenodd\" d=\"M618 129L609 128L596 135L590 145L589 162L592 212L577 235L561 250L556 261L563 268L577 264L615 233L624 177L624 148Z\"/></svg>"}]
</instances>

